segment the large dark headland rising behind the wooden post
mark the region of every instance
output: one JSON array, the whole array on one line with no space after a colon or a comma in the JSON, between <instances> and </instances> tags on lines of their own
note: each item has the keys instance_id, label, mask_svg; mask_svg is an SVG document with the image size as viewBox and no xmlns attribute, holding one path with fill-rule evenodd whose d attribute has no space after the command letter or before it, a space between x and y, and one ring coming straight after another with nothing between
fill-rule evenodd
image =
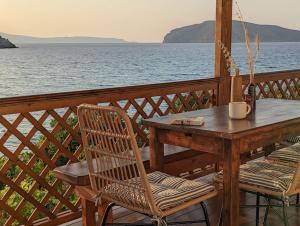
<instances>
[{"instance_id":1,"label":"large dark headland rising behind the wooden post","mask_svg":"<svg viewBox=\"0 0 300 226\"><path fill-rule=\"evenodd\" d=\"M261 42L300 42L300 31L275 25L259 25L246 22L251 39L259 33ZM240 21L233 21L232 42L244 42L244 31ZM215 41L215 21L205 21L170 31L164 43L213 43Z\"/></svg>"}]
</instances>

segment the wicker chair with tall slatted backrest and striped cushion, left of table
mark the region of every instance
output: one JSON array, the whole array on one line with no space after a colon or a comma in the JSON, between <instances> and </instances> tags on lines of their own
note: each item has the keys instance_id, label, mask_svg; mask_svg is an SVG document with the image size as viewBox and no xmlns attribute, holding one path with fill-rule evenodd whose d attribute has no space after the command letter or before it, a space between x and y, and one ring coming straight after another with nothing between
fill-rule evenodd
<instances>
[{"instance_id":1,"label":"wicker chair with tall slatted backrest and striped cushion, left of table","mask_svg":"<svg viewBox=\"0 0 300 226\"><path fill-rule=\"evenodd\" d=\"M152 217L154 224L165 225L167 216L199 203L205 216L201 222L210 225L204 201L217 195L215 187L162 172L147 175L124 111L81 105L78 117L92 190L99 202L110 203L101 225L105 225L113 205L137 211Z\"/></svg>"}]
</instances>

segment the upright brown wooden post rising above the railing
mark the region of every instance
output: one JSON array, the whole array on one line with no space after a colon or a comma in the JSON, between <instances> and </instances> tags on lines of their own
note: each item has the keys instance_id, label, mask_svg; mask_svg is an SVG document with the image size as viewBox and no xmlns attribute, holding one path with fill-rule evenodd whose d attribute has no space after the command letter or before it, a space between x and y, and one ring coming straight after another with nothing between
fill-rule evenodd
<instances>
[{"instance_id":1,"label":"upright brown wooden post rising above the railing","mask_svg":"<svg viewBox=\"0 0 300 226\"><path fill-rule=\"evenodd\" d=\"M230 101L230 73L218 42L222 42L231 51L232 0L216 1L215 77L220 78L218 105L225 105Z\"/></svg>"}]
</instances>

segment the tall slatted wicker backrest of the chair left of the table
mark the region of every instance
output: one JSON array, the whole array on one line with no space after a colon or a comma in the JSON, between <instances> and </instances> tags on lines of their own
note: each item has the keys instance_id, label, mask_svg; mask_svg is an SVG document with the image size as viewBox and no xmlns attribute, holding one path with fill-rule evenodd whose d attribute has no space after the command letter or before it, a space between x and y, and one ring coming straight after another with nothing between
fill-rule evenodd
<instances>
[{"instance_id":1,"label":"tall slatted wicker backrest of the chair left of the table","mask_svg":"<svg viewBox=\"0 0 300 226\"><path fill-rule=\"evenodd\" d=\"M155 212L127 114L116 107L81 105L78 117L92 189L124 207Z\"/></svg>"}]
</instances>

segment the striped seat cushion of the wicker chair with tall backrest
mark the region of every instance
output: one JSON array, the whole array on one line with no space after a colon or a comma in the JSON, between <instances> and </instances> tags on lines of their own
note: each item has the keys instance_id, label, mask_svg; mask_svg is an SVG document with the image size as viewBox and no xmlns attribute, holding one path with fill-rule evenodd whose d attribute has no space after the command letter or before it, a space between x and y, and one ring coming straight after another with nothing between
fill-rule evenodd
<instances>
[{"instance_id":1,"label":"striped seat cushion of the wicker chair with tall backrest","mask_svg":"<svg viewBox=\"0 0 300 226\"><path fill-rule=\"evenodd\" d=\"M153 172L147 176L154 201L161 210L176 207L215 190L213 185L205 182L174 177L162 172ZM106 192L116 200L126 199L126 202L138 202L136 204L140 206L147 203L143 197L137 199L136 194L128 192L128 188L124 185L111 184L107 186Z\"/></svg>"}]
</instances>

